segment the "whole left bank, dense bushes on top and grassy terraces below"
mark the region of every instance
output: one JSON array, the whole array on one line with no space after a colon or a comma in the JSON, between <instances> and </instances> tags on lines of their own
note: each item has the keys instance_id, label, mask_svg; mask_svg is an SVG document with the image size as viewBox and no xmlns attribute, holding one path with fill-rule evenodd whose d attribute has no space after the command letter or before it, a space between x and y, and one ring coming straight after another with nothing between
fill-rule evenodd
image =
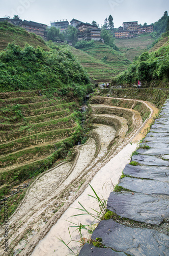
<instances>
[{"instance_id":1,"label":"whole left bank, dense bushes on top and grassy terraces below","mask_svg":"<svg viewBox=\"0 0 169 256\"><path fill-rule=\"evenodd\" d=\"M1 199L19 192L10 216L23 187L86 140L78 110L92 85L68 49L12 43L0 54L0 66Z\"/></svg>"}]
</instances>

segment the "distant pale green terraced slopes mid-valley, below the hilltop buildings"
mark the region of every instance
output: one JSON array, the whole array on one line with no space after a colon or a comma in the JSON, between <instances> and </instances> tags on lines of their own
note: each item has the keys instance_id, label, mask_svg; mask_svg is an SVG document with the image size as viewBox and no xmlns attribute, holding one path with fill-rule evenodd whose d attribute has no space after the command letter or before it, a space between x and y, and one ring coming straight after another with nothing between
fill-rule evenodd
<instances>
[{"instance_id":1,"label":"distant pale green terraced slopes mid-valley, below the hilltop buildings","mask_svg":"<svg viewBox=\"0 0 169 256\"><path fill-rule=\"evenodd\" d=\"M91 77L104 81L126 70L130 61L142 54L153 41L149 34L144 34L127 40L115 39L119 52L102 42L95 42L94 47L88 49L70 49Z\"/></svg>"}]
</instances>

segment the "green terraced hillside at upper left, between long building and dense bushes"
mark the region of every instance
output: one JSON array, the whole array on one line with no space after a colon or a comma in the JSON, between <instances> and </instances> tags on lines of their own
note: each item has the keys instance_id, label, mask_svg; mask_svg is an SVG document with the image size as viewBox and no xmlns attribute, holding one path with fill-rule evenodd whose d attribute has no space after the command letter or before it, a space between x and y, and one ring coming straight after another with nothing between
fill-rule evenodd
<instances>
[{"instance_id":1,"label":"green terraced hillside at upper left, between long building and dense bushes","mask_svg":"<svg viewBox=\"0 0 169 256\"><path fill-rule=\"evenodd\" d=\"M24 47L29 44L33 47L42 47L44 50L49 50L42 37L34 33L29 33L23 28L15 27L7 22L0 22L0 51L5 50L9 42L15 42L16 45Z\"/></svg>"}]
</instances>

